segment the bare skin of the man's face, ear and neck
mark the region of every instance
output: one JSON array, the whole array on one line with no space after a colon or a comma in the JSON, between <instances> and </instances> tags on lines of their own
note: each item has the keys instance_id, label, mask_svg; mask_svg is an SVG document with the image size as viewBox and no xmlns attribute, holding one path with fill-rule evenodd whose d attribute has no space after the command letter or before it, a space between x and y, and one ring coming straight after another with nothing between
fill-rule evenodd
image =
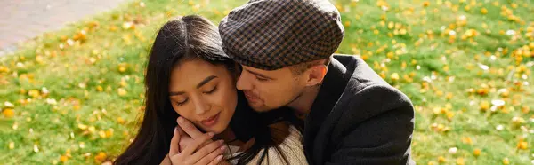
<instances>
[{"instance_id":1,"label":"bare skin of the man's face, ear and neck","mask_svg":"<svg viewBox=\"0 0 534 165\"><path fill-rule=\"evenodd\" d=\"M295 75L289 67L263 70L242 66L237 88L244 91L249 105L257 112L289 106L299 114L307 114L319 91L317 87L327 73L327 67L321 65L324 61L314 61L319 65L301 75Z\"/></svg>"}]
</instances>

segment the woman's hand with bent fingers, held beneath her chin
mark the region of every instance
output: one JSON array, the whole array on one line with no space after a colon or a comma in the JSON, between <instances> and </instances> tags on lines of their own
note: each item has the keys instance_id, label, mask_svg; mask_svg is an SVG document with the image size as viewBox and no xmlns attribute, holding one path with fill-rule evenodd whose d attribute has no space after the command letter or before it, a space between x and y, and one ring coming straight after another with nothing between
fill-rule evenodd
<instances>
[{"instance_id":1,"label":"woman's hand with bent fingers, held beneath her chin","mask_svg":"<svg viewBox=\"0 0 534 165\"><path fill-rule=\"evenodd\" d=\"M210 142L207 145L201 146L206 143L206 141L211 141L211 138L214 136L213 133L208 132L199 135L198 138L194 138L193 141L184 148L180 148L179 145L181 136L178 128L175 128L174 136L171 139L171 149L168 154L172 164L215 165L223 161L223 152L226 149L223 145L223 140Z\"/></svg>"}]
</instances>

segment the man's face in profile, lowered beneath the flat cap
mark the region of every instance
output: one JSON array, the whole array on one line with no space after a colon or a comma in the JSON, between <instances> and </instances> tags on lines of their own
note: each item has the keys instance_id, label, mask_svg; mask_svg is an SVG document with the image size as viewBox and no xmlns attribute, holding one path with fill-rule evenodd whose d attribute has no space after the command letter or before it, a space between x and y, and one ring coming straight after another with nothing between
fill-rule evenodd
<instances>
[{"instance_id":1,"label":"man's face in profile, lowered beneath the flat cap","mask_svg":"<svg viewBox=\"0 0 534 165\"><path fill-rule=\"evenodd\" d=\"M305 87L301 76L293 74L288 67L268 71L243 66L237 88L244 91L255 111L265 112L287 106L298 98Z\"/></svg>"}]
</instances>

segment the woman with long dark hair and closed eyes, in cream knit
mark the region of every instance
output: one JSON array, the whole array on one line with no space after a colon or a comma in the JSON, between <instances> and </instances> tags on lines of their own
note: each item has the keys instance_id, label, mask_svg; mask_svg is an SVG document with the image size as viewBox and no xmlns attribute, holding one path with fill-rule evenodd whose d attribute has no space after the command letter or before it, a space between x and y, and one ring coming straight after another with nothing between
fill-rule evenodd
<instances>
[{"instance_id":1,"label":"woman with long dark hair and closed eyes, in cream knit","mask_svg":"<svg viewBox=\"0 0 534 165\"><path fill-rule=\"evenodd\" d=\"M214 24L199 16L171 20L160 28L145 75L141 128L116 164L306 162L298 131L302 127L294 126L302 122L285 109L255 113L236 90L239 66L228 59L221 44ZM204 145L176 146L177 136L182 136L175 131L179 116L199 130L213 132L213 138ZM214 141L221 139L226 145L219 147ZM226 149L225 159L217 148ZM209 152L195 152L201 150Z\"/></svg>"}]
</instances>

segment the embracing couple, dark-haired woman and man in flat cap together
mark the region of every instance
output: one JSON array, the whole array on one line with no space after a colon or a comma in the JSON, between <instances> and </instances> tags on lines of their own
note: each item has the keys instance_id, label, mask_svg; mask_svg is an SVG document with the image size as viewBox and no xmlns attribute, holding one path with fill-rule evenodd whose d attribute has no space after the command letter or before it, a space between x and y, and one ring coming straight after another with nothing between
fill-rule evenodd
<instances>
[{"instance_id":1,"label":"embracing couple, dark-haired woman and man in flat cap together","mask_svg":"<svg viewBox=\"0 0 534 165\"><path fill-rule=\"evenodd\" d=\"M344 35L328 0L251 0L218 28L168 21L115 164L414 164L409 98L335 54Z\"/></svg>"}]
</instances>

